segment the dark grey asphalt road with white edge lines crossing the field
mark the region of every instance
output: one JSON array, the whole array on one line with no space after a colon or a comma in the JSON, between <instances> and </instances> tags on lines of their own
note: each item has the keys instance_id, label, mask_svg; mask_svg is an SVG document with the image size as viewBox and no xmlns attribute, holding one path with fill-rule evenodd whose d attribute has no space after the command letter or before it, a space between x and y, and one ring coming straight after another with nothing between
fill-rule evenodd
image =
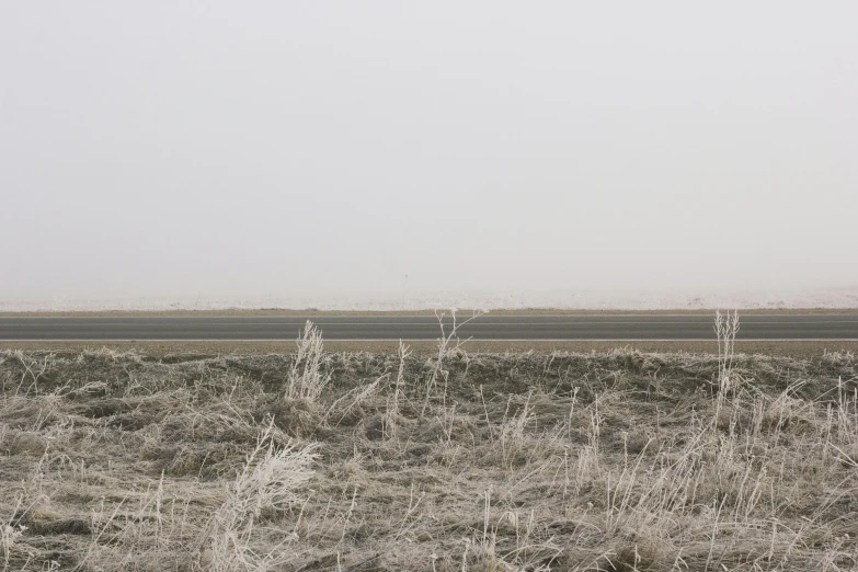
<instances>
[{"instance_id":1,"label":"dark grey asphalt road with white edge lines crossing the field","mask_svg":"<svg viewBox=\"0 0 858 572\"><path fill-rule=\"evenodd\" d=\"M0 317L0 341L294 340L307 318ZM740 340L858 340L858 314L744 314ZM436 340L434 316L312 317L325 340ZM446 331L451 323L445 319ZM711 314L485 314L458 330L473 340L714 340Z\"/></svg>"}]
</instances>

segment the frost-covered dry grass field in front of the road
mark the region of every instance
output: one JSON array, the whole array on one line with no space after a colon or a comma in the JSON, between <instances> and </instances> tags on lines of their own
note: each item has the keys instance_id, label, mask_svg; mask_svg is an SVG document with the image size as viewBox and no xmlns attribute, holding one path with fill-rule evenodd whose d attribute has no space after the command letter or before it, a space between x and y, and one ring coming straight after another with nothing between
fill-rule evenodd
<instances>
[{"instance_id":1,"label":"frost-covered dry grass field in front of the road","mask_svg":"<svg viewBox=\"0 0 858 572\"><path fill-rule=\"evenodd\" d=\"M0 352L4 570L858 568L858 358Z\"/></svg>"}]
</instances>

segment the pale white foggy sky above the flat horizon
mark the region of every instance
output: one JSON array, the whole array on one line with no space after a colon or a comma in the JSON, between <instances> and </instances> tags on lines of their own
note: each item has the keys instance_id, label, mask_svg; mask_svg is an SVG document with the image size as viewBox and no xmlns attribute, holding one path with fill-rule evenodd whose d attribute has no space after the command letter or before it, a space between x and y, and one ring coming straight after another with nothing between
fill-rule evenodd
<instances>
[{"instance_id":1,"label":"pale white foggy sky above the flat horizon","mask_svg":"<svg viewBox=\"0 0 858 572\"><path fill-rule=\"evenodd\" d=\"M3 2L0 299L858 284L853 2Z\"/></svg>"}]
</instances>

